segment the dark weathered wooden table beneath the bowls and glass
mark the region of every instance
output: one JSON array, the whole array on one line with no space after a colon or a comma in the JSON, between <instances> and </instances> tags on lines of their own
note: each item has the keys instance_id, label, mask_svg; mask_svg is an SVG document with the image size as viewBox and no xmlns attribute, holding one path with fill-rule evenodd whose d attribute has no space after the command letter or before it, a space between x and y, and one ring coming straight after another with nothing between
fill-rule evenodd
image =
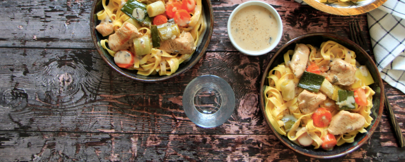
<instances>
[{"instance_id":1,"label":"dark weathered wooden table beneath the bowls and glass","mask_svg":"<svg viewBox=\"0 0 405 162\"><path fill-rule=\"evenodd\" d=\"M318 161L282 145L258 104L259 78L275 50L237 52L226 32L231 11L246 0L212 0L215 25L207 53L183 75L140 83L113 71L90 36L92 0L1 0L0 161ZM348 36L360 21L371 47L367 15L337 16L293 0L265 0L283 20L281 43L306 33ZM195 77L228 81L236 107L217 128L186 117L182 95ZM384 82L405 131L405 94ZM372 138L333 160L404 161L386 111Z\"/></svg>"}]
</instances>

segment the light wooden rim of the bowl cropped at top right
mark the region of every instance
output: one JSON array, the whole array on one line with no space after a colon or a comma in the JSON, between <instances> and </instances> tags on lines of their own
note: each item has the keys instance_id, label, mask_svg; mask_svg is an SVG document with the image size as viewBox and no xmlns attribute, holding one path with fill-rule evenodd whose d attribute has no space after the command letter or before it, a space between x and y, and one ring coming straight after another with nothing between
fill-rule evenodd
<instances>
[{"instance_id":1,"label":"light wooden rim of the bowl cropped at top right","mask_svg":"<svg viewBox=\"0 0 405 162\"><path fill-rule=\"evenodd\" d=\"M325 13L330 13L333 15L341 15L341 16L350 16L350 15L360 15L362 13L367 13L373 9L377 9L377 7L381 6L387 0L374 0L373 2L366 4L364 6L359 7L350 7L350 8L337 8L328 6L316 0L303 0L309 6L323 11Z\"/></svg>"}]
</instances>

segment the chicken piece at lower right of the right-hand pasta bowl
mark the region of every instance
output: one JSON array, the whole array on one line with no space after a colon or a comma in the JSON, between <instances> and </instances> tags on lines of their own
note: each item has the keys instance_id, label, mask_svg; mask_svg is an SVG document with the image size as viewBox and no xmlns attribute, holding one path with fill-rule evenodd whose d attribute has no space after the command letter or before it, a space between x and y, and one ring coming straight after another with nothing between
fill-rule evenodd
<instances>
[{"instance_id":1,"label":"chicken piece at lower right of the right-hand pasta bowl","mask_svg":"<svg viewBox=\"0 0 405 162\"><path fill-rule=\"evenodd\" d=\"M332 117L328 132L333 135L352 132L353 130L362 128L365 122L366 119L363 115L342 110Z\"/></svg>"}]
</instances>

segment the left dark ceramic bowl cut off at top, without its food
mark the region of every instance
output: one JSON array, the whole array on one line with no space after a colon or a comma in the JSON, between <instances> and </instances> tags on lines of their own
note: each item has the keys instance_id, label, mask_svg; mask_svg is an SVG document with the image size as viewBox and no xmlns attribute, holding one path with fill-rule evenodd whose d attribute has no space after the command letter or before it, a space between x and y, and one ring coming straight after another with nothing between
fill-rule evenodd
<instances>
[{"instance_id":1,"label":"left dark ceramic bowl cut off at top, without its food","mask_svg":"<svg viewBox=\"0 0 405 162\"><path fill-rule=\"evenodd\" d=\"M107 0L108 1L108 0ZM213 9L211 6L211 1L210 0L202 0L203 4L203 11L205 13L205 21L207 22L207 31L205 32L205 35L203 37L203 40L201 44L197 47L196 51L192 55L192 58L188 62L183 62L179 65L179 69L173 74L173 75L149 75L149 76L143 76L143 75L137 75L136 72L138 70L128 70L124 68L119 68L115 63L114 63L114 58L107 52L107 50L103 49L101 47L100 40L102 39L107 39L108 36L103 37L100 33L97 32L96 26L100 21L97 19L97 13L101 10L103 10L102 7L102 0L95 0L92 6L92 12L90 16L90 30L93 38L93 43L94 46L96 46L96 49L98 53L100 53L101 58L115 71L117 71L119 74L122 74L130 79L134 79L136 81L141 81L141 82L157 82L157 81L164 81L167 79L171 79L173 77L177 77L181 75L183 72L187 71L190 69L192 66L194 66L198 60L204 55L205 50L208 47L209 40L211 39L213 27L214 27L214 17L213 17Z\"/></svg>"}]
</instances>

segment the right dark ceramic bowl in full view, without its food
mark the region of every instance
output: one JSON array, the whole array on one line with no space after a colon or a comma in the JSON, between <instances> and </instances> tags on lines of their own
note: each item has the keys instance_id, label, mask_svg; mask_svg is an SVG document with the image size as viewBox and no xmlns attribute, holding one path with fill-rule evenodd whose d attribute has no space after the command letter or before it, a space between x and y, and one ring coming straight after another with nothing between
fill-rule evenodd
<instances>
[{"instance_id":1,"label":"right dark ceramic bowl in full view, without its food","mask_svg":"<svg viewBox=\"0 0 405 162\"><path fill-rule=\"evenodd\" d=\"M284 62L283 59L283 54L286 53L288 50L292 49L294 50L294 47L297 43L303 43L303 44L311 44L314 45L315 47L320 47L322 42L326 42L328 40L333 40L348 49L354 51L356 53L356 60L361 64L367 66L367 68L370 70L370 73L374 79L373 84L369 85L371 89L375 91L375 94L373 96L373 108L371 109L371 117L373 117L373 121L371 122L371 125L366 128L367 132L366 133L359 133L356 135L354 142L353 143L345 143L340 146L335 146L333 150L331 151L326 151L322 148L319 149L313 149L313 146L310 147L300 147L299 145L291 142L287 136L283 136L279 133L277 133L273 126L271 126L269 119L267 118L266 113L264 113L264 85L269 85L268 79L268 73L269 70L273 69L275 66L281 64ZM366 141L371 137L371 134L373 134L375 128L378 126L378 122L381 119L383 107L384 107L384 93L381 93L384 91L384 87L382 84L381 77L379 75L379 72L377 70L377 67L375 66L373 60L370 58L370 56L364 51L360 46L358 46L356 43L352 42L351 40L348 40L347 38L335 35L335 34L328 34L328 33L311 33L311 34L305 34L303 36L299 36L298 38L295 38L293 40L290 40L288 43L283 45L273 56L269 64L267 64L266 68L264 69L262 80L260 82L260 105L261 109L264 115L264 119L266 119L267 124L270 126L271 130L273 131L274 135L287 147L290 149L301 153L306 156L311 156L314 158L336 158L339 156L343 156L347 153L350 153L366 143Z\"/></svg>"}]
</instances>

